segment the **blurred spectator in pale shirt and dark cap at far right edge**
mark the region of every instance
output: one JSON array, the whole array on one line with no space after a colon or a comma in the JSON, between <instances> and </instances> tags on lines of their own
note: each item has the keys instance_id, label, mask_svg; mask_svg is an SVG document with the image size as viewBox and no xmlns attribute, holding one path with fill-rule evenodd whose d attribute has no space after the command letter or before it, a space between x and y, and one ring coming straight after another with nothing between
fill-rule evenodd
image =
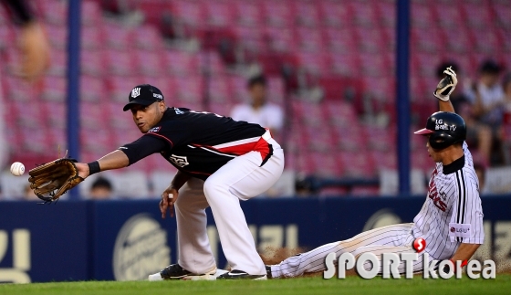
<instances>
[{"instance_id":1,"label":"blurred spectator in pale shirt and dark cap at far right edge","mask_svg":"<svg viewBox=\"0 0 511 295\"><path fill-rule=\"evenodd\" d=\"M474 114L479 121L488 124L495 132L502 123L504 90L499 83L501 68L488 59L479 68L479 80L469 92L474 101ZM495 135L495 133L494 133Z\"/></svg>"}]
</instances>

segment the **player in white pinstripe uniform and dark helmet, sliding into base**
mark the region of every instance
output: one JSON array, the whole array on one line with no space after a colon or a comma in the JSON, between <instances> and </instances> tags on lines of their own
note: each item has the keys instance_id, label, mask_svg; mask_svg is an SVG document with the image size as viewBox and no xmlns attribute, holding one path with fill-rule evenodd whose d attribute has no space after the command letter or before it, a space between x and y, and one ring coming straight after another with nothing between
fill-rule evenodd
<instances>
[{"instance_id":1,"label":"player in white pinstripe uniform and dark helmet, sliding into base","mask_svg":"<svg viewBox=\"0 0 511 295\"><path fill-rule=\"evenodd\" d=\"M321 271L325 269L326 256L332 252L336 257L345 252L355 257L370 252L378 258L383 253L413 253L413 241L420 237L425 240L426 247L419 255L428 253L432 260L461 260L464 265L474 255L485 239L479 181L472 155L464 142L464 120L454 113L449 100L457 84L456 74L451 68L444 73L447 77L434 91L440 111L428 118L426 128L415 132L428 137L427 150L436 167L426 201L413 223L375 228L287 258L277 265L267 266L268 277L296 277ZM367 264L365 267L370 269L370 262ZM422 258L414 262L413 271L423 268ZM398 269L404 273L404 262Z\"/></svg>"}]
</instances>

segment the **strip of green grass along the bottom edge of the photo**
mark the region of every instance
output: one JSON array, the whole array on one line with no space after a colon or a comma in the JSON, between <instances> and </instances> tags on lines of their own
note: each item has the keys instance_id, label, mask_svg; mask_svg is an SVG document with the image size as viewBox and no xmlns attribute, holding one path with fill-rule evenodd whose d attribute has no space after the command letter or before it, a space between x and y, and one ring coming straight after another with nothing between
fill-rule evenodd
<instances>
[{"instance_id":1,"label":"strip of green grass along the bottom edge of the photo","mask_svg":"<svg viewBox=\"0 0 511 295\"><path fill-rule=\"evenodd\" d=\"M269 279L264 281L87 281L0 284L0 294L510 294L511 275L496 279Z\"/></svg>"}]
</instances>

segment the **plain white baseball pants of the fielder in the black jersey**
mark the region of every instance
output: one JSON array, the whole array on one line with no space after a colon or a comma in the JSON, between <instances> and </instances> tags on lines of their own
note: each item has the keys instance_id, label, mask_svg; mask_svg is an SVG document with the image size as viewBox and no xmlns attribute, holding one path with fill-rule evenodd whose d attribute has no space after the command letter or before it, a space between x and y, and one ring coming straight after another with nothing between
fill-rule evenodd
<instances>
[{"instance_id":1,"label":"plain white baseball pants of the fielder in the black jersey","mask_svg":"<svg viewBox=\"0 0 511 295\"><path fill-rule=\"evenodd\" d=\"M273 139L273 155L263 165L261 153L250 152L226 163L203 182L192 178L175 203L179 265L202 274L216 267L206 231L205 208L210 206L225 258L232 269L250 275L266 274L254 237L239 201L260 195L276 183L284 170L284 153Z\"/></svg>"}]
</instances>

